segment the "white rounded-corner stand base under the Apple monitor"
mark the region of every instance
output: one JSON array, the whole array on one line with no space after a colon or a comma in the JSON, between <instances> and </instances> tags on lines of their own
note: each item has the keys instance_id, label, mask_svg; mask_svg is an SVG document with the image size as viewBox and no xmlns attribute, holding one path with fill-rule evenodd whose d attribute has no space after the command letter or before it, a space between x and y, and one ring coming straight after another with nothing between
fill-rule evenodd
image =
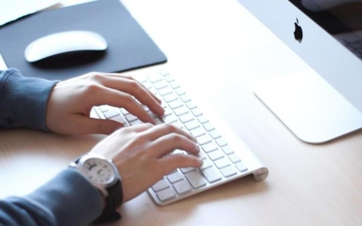
<instances>
[{"instance_id":1,"label":"white rounded-corner stand base under the Apple monitor","mask_svg":"<svg viewBox=\"0 0 362 226\"><path fill-rule=\"evenodd\" d=\"M254 93L306 143L326 143L362 128L362 113L313 70L263 80Z\"/></svg>"}]
</instances>

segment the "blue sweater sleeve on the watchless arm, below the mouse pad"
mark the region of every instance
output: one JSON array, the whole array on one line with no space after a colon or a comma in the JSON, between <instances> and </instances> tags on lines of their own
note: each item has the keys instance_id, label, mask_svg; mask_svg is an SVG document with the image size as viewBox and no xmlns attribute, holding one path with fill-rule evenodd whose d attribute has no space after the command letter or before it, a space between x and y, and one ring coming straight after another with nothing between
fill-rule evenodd
<instances>
[{"instance_id":1,"label":"blue sweater sleeve on the watchless arm, below the mouse pad","mask_svg":"<svg viewBox=\"0 0 362 226\"><path fill-rule=\"evenodd\" d=\"M0 126L47 131L46 106L57 81L23 77L10 68L0 73Z\"/></svg>"}]
</instances>

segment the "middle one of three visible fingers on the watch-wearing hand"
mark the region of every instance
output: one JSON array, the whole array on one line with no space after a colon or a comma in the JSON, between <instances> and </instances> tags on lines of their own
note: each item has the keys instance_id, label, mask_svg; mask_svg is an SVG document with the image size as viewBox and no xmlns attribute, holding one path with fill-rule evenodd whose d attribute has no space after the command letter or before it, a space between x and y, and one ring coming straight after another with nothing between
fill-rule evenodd
<instances>
[{"instance_id":1,"label":"middle one of three visible fingers on the watch-wearing hand","mask_svg":"<svg viewBox=\"0 0 362 226\"><path fill-rule=\"evenodd\" d=\"M172 133L161 136L150 144L150 153L156 158L165 156L176 149L181 149L192 154L200 152L199 146L186 136Z\"/></svg>"}]
</instances>

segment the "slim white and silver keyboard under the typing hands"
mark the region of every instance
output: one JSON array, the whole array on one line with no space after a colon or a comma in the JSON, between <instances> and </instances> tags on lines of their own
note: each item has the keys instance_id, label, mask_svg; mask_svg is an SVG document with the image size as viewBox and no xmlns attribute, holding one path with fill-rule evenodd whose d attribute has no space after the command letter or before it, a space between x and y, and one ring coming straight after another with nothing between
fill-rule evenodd
<instances>
[{"instance_id":1,"label":"slim white and silver keyboard under the typing hands","mask_svg":"<svg viewBox=\"0 0 362 226\"><path fill-rule=\"evenodd\" d=\"M268 176L268 169L246 145L231 147L227 143L227 138L219 134L201 109L181 89L173 75L160 71L136 79L162 99L165 114L158 116L146 106L143 108L157 124L174 124L196 137L201 147L198 157L204 160L200 168L179 168L150 187L148 192L156 203L173 203L249 174L253 174L257 181ZM116 120L125 126L142 123L123 108L103 105L95 107L95 111L100 118ZM181 150L175 150L174 153L187 155Z\"/></svg>"}]
</instances>

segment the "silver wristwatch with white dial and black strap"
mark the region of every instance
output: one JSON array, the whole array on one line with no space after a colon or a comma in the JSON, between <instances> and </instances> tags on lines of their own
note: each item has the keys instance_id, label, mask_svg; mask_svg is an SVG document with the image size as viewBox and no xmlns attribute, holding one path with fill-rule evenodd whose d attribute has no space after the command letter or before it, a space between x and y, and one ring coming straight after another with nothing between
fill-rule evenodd
<instances>
[{"instance_id":1,"label":"silver wristwatch with white dial and black strap","mask_svg":"<svg viewBox=\"0 0 362 226\"><path fill-rule=\"evenodd\" d=\"M122 180L112 160L87 153L71 162L69 166L83 174L106 200L102 215L94 223L120 220L122 216L115 210L123 201Z\"/></svg>"}]
</instances>

